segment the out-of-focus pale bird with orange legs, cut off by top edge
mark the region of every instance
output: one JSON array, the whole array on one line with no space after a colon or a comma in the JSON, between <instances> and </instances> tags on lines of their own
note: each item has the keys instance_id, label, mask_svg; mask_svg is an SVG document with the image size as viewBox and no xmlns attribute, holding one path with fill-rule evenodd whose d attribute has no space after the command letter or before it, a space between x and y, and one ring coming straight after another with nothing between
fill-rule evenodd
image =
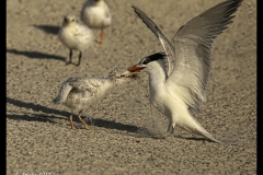
<instances>
[{"instance_id":1,"label":"out-of-focus pale bird with orange legs, cut off by top edge","mask_svg":"<svg viewBox=\"0 0 263 175\"><path fill-rule=\"evenodd\" d=\"M81 20L90 28L101 30L99 43L103 43L103 28L112 23L110 9L104 0L87 0L81 11Z\"/></svg>"}]
</instances>

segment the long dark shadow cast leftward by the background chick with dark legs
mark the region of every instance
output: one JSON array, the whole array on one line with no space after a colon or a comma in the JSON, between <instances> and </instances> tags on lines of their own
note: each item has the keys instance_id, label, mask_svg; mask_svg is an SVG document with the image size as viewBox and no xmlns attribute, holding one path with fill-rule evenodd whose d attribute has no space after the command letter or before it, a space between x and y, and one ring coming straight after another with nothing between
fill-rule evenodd
<instances>
[{"instance_id":1,"label":"long dark shadow cast leftward by the background chick with dark legs","mask_svg":"<svg viewBox=\"0 0 263 175\"><path fill-rule=\"evenodd\" d=\"M50 54L45 54L41 51L23 51L23 50L16 50L16 49L7 49L8 52L14 54L14 55L23 55L28 58L33 59L57 59L66 62L65 57L56 56L56 55L50 55Z\"/></svg>"}]
</instances>

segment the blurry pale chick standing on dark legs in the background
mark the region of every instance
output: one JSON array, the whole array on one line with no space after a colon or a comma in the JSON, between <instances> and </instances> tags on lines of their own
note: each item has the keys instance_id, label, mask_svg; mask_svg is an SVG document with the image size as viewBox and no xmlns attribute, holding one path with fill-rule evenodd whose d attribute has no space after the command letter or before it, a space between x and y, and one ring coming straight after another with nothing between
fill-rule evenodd
<instances>
[{"instance_id":1,"label":"blurry pale chick standing on dark legs in the background","mask_svg":"<svg viewBox=\"0 0 263 175\"><path fill-rule=\"evenodd\" d=\"M82 57L82 50L91 46L94 42L94 34L84 24L76 21L73 15L66 15L62 21L62 26L58 32L59 40L69 48L69 62L72 62L72 50L79 50L79 62Z\"/></svg>"}]
</instances>

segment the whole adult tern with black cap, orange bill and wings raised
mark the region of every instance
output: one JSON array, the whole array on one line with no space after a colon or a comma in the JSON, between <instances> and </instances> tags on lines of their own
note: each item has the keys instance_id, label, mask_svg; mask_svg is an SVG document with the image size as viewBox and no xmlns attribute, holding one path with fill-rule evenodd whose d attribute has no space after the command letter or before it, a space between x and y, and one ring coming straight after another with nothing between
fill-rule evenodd
<instances>
[{"instance_id":1,"label":"whole adult tern with black cap, orange bill and wings raised","mask_svg":"<svg viewBox=\"0 0 263 175\"><path fill-rule=\"evenodd\" d=\"M133 7L135 13L159 38L165 54L145 57L128 70L134 73L144 70L149 74L150 103L169 118L170 133L176 125L222 143L192 115L199 112L201 103L206 101L213 40L232 22L235 16L231 14L241 2L242 0L227 0L197 15L180 27L173 38L174 46L152 20Z\"/></svg>"}]
</instances>

